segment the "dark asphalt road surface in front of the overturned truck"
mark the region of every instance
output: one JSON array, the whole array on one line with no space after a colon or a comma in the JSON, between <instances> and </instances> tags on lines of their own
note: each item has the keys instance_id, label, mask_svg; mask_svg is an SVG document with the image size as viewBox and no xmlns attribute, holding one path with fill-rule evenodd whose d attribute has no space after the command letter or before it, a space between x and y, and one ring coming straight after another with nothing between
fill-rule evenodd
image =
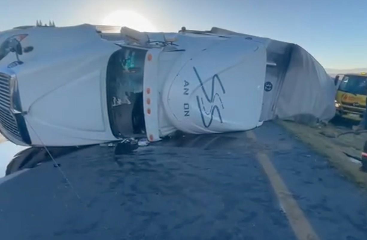
<instances>
[{"instance_id":1,"label":"dark asphalt road surface in front of the overturned truck","mask_svg":"<svg viewBox=\"0 0 367 240\"><path fill-rule=\"evenodd\" d=\"M56 161L73 188L51 161L0 185L0 239L367 239L366 191L275 123Z\"/></svg>"}]
</instances>

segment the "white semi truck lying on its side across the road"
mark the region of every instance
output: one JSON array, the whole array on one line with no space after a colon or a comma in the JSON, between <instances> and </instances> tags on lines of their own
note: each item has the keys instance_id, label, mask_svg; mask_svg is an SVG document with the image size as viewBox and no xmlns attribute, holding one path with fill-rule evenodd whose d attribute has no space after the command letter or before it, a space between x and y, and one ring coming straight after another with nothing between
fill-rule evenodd
<instances>
[{"instance_id":1,"label":"white semi truck lying on its side across the road","mask_svg":"<svg viewBox=\"0 0 367 240\"><path fill-rule=\"evenodd\" d=\"M0 131L31 146L334 116L335 87L296 44L225 29L141 33L80 25L0 33Z\"/></svg>"}]
</instances>

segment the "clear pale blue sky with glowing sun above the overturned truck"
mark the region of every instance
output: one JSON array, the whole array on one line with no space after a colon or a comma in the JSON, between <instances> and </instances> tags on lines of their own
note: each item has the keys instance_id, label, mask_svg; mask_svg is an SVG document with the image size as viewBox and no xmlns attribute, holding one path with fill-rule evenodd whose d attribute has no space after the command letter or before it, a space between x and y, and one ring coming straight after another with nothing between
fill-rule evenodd
<instances>
[{"instance_id":1,"label":"clear pale blue sky with glowing sun above the overturned truck","mask_svg":"<svg viewBox=\"0 0 367 240\"><path fill-rule=\"evenodd\" d=\"M327 68L367 67L366 0L0 0L0 7L0 31L36 19L173 32L218 26L297 43Z\"/></svg>"}]
</instances>

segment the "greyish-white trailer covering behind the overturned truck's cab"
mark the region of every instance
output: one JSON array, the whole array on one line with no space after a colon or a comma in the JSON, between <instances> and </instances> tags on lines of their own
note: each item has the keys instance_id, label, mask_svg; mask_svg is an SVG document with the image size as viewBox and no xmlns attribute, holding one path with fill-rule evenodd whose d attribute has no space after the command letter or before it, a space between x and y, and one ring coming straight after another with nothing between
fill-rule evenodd
<instances>
[{"instance_id":1,"label":"greyish-white trailer covering behind the overturned truck's cab","mask_svg":"<svg viewBox=\"0 0 367 240\"><path fill-rule=\"evenodd\" d=\"M275 115L281 119L311 115L328 121L335 115L335 91L333 80L319 62L302 47L293 45Z\"/></svg>"}]
</instances>

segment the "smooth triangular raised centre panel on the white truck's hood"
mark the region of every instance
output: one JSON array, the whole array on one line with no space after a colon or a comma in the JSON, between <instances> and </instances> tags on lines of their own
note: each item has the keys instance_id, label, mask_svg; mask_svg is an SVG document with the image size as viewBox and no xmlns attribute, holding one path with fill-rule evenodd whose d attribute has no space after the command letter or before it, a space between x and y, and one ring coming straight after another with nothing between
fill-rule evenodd
<instances>
[{"instance_id":1,"label":"smooth triangular raised centre panel on the white truck's hood","mask_svg":"<svg viewBox=\"0 0 367 240\"><path fill-rule=\"evenodd\" d=\"M29 115L55 127L105 131L99 78L94 71L59 87L32 104Z\"/></svg>"}]
</instances>

